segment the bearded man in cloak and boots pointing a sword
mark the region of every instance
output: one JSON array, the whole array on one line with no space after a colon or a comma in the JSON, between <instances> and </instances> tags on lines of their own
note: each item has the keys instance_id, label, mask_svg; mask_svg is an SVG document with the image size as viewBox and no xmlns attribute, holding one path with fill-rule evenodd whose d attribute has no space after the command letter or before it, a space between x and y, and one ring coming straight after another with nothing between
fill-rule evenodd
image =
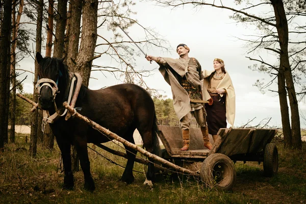
<instances>
[{"instance_id":1,"label":"bearded man in cloak and boots pointing a sword","mask_svg":"<svg viewBox=\"0 0 306 204\"><path fill-rule=\"evenodd\" d=\"M159 71L165 81L171 86L174 111L181 121L183 133L182 151L189 149L189 129L192 116L195 117L203 135L204 146L212 148L209 141L206 112L200 100L209 100L211 97L203 89L203 75L201 65L195 58L189 58L189 47L179 44L176 52L180 59L146 56L148 61L154 60L160 65Z\"/></svg>"}]
</instances>

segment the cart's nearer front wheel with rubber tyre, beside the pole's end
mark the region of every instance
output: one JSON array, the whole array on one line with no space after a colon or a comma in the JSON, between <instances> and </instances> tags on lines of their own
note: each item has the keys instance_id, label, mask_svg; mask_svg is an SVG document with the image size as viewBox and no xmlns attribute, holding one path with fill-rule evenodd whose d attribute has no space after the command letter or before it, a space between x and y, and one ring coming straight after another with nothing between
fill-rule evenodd
<instances>
[{"instance_id":1,"label":"cart's nearer front wheel with rubber tyre, beside the pole's end","mask_svg":"<svg viewBox=\"0 0 306 204\"><path fill-rule=\"evenodd\" d=\"M230 158L217 153L204 160L200 176L209 187L230 191L236 182L236 169Z\"/></svg>"}]
</instances>

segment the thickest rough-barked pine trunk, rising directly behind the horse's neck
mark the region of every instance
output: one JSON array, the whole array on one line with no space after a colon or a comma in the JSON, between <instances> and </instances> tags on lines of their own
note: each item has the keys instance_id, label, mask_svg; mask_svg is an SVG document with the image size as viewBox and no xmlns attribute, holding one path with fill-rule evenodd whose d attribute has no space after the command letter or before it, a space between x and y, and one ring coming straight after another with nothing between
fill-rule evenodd
<instances>
[{"instance_id":1,"label":"thickest rough-barked pine trunk, rising directly behind the horse's neck","mask_svg":"<svg viewBox=\"0 0 306 204\"><path fill-rule=\"evenodd\" d=\"M83 4L82 36L76 71L81 74L83 85L86 87L89 84L92 58L97 40L97 9L97 0L85 1Z\"/></svg>"}]
</instances>

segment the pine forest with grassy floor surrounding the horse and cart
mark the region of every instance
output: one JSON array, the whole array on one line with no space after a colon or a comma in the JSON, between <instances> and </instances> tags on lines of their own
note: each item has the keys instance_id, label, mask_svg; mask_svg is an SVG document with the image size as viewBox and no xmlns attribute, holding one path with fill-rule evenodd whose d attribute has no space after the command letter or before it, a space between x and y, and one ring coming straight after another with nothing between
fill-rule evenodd
<instances>
[{"instance_id":1,"label":"pine forest with grassy floor surrounding the horse and cart","mask_svg":"<svg viewBox=\"0 0 306 204\"><path fill-rule=\"evenodd\" d=\"M152 10L180 10L182 18L187 19L189 17L184 16L187 10L198 13L205 9L226 11L230 13L227 18L236 25L246 25L246 30L256 28L256 33L245 35L243 39L237 37L237 40L246 47L244 57L251 61L248 68L266 75L265 80L257 80L253 86L259 92L271 92L278 98L281 126L275 127L265 121L249 125L249 121L245 121L234 128L277 129L272 140L279 155L276 176L263 177L260 162L237 162L237 182L232 192L206 188L198 178L178 172L160 172L154 188L143 188L145 165L135 164L135 182L126 185L118 181L125 159L88 144L96 191L92 193L83 188L85 179L74 146L71 146L71 160L75 187L73 190L62 188L63 161L52 130L43 123L41 110L30 111L33 105L16 97L19 93L38 103L36 53L63 60L70 72L81 75L85 87L90 86L91 80L98 81L100 88L108 86L97 79L97 73L105 78L113 77L112 85L127 83L142 87L154 101L158 124L181 126L171 96L147 83L157 69L137 66L139 57L144 59L143 54L148 50L164 53L172 50L169 39L159 33L160 29L150 28L149 22L139 22L137 11L133 10L137 4L140 2L127 0L0 1L0 202L305 203L306 133L301 109L306 93L304 0L141 1ZM266 12L261 12L263 9ZM209 20L213 22L214 18ZM192 29L196 30L195 27ZM129 35L135 33L133 41ZM268 52L268 57L262 57L261 52ZM273 62L272 58L275 59ZM24 68L30 63L33 70ZM24 90L25 82L29 80L24 73L32 76L31 92ZM22 125L29 127L31 132L15 130ZM194 118L191 127L199 127ZM122 145L114 142L108 142L106 146L124 151Z\"/></svg>"}]
</instances>

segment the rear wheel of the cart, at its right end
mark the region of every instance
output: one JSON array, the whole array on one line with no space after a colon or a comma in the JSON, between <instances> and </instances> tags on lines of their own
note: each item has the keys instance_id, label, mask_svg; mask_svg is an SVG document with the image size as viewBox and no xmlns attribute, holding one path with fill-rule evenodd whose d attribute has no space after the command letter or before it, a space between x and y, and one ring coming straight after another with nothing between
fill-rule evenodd
<instances>
[{"instance_id":1,"label":"rear wheel of the cart, at its right end","mask_svg":"<svg viewBox=\"0 0 306 204\"><path fill-rule=\"evenodd\" d=\"M274 143L269 143L265 147L264 154L264 174L273 176L278 171L278 151Z\"/></svg>"}]
</instances>

